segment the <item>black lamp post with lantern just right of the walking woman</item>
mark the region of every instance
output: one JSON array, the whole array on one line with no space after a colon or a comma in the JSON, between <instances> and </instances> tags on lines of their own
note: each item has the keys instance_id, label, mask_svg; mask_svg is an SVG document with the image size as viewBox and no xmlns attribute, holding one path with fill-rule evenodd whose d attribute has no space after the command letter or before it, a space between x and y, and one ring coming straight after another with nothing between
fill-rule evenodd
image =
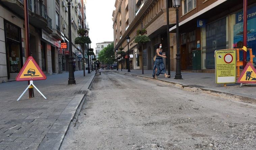
<instances>
[{"instance_id":1,"label":"black lamp post with lantern just right of the walking woman","mask_svg":"<svg viewBox=\"0 0 256 150\"><path fill-rule=\"evenodd\" d=\"M176 54L176 74L174 79L182 79L180 70L180 53L179 53L179 7L181 0L172 0L173 7L176 8L176 43L177 43L177 54Z\"/></svg>"}]
</instances>

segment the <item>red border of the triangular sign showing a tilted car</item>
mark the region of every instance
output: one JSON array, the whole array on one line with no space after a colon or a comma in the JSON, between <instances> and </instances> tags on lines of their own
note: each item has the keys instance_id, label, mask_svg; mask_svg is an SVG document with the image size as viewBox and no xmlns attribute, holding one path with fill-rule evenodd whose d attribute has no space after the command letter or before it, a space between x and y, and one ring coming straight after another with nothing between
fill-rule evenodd
<instances>
[{"instance_id":1,"label":"red border of the triangular sign showing a tilted car","mask_svg":"<svg viewBox=\"0 0 256 150\"><path fill-rule=\"evenodd\" d=\"M35 67L38 69L38 71L40 72L40 74L42 75L42 77L38 77L38 78L20 78L22 73L24 72L26 66L28 65L29 61L32 61L33 64L35 65ZM28 59L26 60L25 64L23 65L23 67L21 68L21 71L19 72L18 76L16 77L16 81L31 81L31 80L46 80L46 76L45 73L42 72L41 68L39 67L39 65L36 63L35 59L32 56L29 56Z\"/></svg>"}]
</instances>

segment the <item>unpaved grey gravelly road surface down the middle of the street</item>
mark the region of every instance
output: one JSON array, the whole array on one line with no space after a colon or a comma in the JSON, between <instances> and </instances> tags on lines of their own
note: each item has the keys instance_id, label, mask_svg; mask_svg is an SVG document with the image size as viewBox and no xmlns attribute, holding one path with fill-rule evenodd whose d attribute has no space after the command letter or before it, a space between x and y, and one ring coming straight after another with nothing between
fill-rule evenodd
<instances>
[{"instance_id":1,"label":"unpaved grey gravelly road surface down the middle of the street","mask_svg":"<svg viewBox=\"0 0 256 150\"><path fill-rule=\"evenodd\" d=\"M105 71L61 150L254 150L255 108Z\"/></svg>"}]
</instances>

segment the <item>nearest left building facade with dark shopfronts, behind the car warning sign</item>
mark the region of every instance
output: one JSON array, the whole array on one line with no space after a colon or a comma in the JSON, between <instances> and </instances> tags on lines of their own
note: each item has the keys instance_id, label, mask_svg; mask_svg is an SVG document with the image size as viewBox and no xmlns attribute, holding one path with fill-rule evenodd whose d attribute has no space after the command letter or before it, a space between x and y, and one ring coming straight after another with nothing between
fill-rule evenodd
<instances>
[{"instance_id":1,"label":"nearest left building facade with dark shopfronts, behind the car warning sign","mask_svg":"<svg viewBox=\"0 0 256 150\"><path fill-rule=\"evenodd\" d=\"M46 74L58 72L59 36L52 26L57 0L30 0L30 55ZM50 13L49 13L50 12ZM54 20L55 21L55 20ZM27 59L23 0L0 1L0 83L15 80Z\"/></svg>"}]
</instances>

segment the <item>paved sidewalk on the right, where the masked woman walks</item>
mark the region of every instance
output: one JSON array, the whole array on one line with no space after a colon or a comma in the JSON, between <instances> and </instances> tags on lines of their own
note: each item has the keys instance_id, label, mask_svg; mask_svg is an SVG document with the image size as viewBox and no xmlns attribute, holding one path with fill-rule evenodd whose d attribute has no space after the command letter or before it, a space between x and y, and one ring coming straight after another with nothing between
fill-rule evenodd
<instances>
[{"instance_id":1,"label":"paved sidewalk on the right, where the masked woman walks","mask_svg":"<svg viewBox=\"0 0 256 150\"><path fill-rule=\"evenodd\" d=\"M144 74L142 74L142 70L131 70L131 72L127 72L126 69L123 69L123 71L119 69L119 72L131 73L134 75L152 78L153 71L144 70ZM239 98L240 100L256 102L255 86L243 86L240 88L239 84L227 84L228 87L223 87L222 85L217 85L215 83L215 73L195 73L182 71L181 75L182 80L175 80L175 71L171 71L171 78L165 78L163 74L160 74L158 80L168 81L172 84L180 84L182 86L197 87L201 90L210 90L211 92L229 94Z\"/></svg>"}]
</instances>

